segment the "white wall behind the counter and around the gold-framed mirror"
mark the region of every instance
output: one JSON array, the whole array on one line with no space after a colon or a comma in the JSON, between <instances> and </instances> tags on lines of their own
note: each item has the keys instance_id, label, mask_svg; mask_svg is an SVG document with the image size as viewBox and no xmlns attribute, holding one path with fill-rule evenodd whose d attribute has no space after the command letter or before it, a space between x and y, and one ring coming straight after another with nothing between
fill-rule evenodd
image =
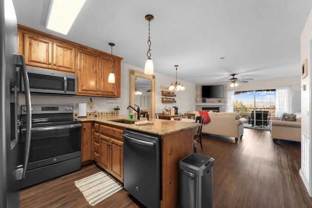
<instances>
[{"instance_id":1,"label":"white wall behind the counter and around the gold-framed mirror","mask_svg":"<svg viewBox=\"0 0 312 208\"><path fill-rule=\"evenodd\" d=\"M99 112L114 111L113 108L109 108L110 103L119 104L120 106L120 115L128 115L127 107L130 102L130 70L137 70L143 72L144 70L138 67L134 67L128 64L121 63L121 97L120 98L106 98L106 97L96 97L96 96L47 96L47 95L31 95L32 104L70 104L74 106L74 112L78 113L78 103L90 101L90 97L94 101L94 108L91 109L87 105L87 112L94 112L98 110ZM169 86L172 81L175 81L176 78L163 76L157 73L155 75L155 111L162 112L162 109L167 105L170 109L172 106L178 106L179 113L185 113L189 110L195 110L195 84L182 81L184 91L176 92L176 103L161 103L161 89L160 85ZM23 95L20 95L20 105L25 104L25 99Z\"/></svg>"}]
</instances>

